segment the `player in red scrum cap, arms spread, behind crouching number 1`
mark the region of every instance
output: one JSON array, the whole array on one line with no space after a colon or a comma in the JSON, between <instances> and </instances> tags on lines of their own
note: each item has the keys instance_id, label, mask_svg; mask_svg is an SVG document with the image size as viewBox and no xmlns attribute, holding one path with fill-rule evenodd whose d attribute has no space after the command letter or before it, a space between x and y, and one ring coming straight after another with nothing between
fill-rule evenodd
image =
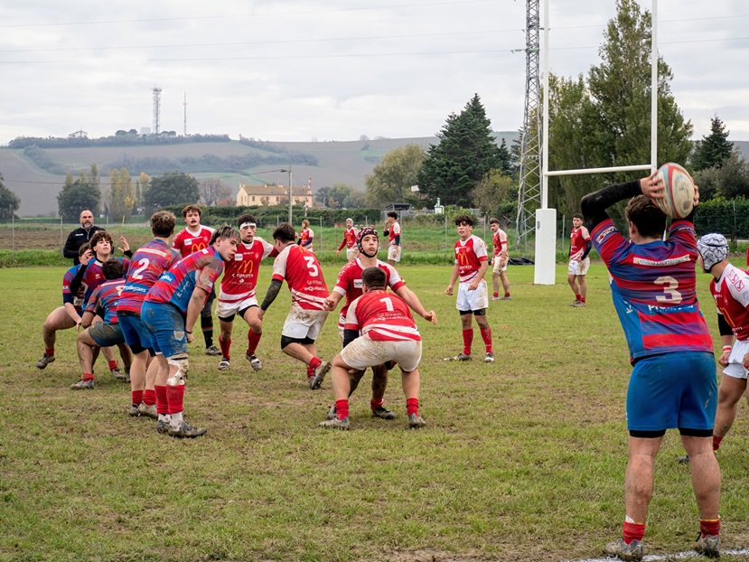
<instances>
[{"instance_id":1,"label":"player in red scrum cap, arms spread, behind crouching number 1","mask_svg":"<svg viewBox=\"0 0 749 562\"><path fill-rule=\"evenodd\" d=\"M325 299L325 309L332 311L345 295L346 304L341 309L341 317L338 328L343 340L343 327L346 323L346 313L351 303L363 295L361 274L367 267L379 267L385 272L385 285L401 297L419 316L436 323L437 318L434 311L426 312L424 306L407 286L403 279L398 275L395 267L381 262L377 258L379 250L379 236L377 230L371 227L365 227L360 230L357 237L357 247L359 249L359 258L349 262L342 267L338 274L338 279L332 289L331 294ZM350 394L359 386L359 381L364 375L364 370L350 373ZM395 414L384 406L385 389L388 386L388 368L386 365L376 365L372 367L372 398L370 406L372 416L383 419L393 419ZM329 419L335 417L335 405L328 413Z\"/></svg>"}]
</instances>

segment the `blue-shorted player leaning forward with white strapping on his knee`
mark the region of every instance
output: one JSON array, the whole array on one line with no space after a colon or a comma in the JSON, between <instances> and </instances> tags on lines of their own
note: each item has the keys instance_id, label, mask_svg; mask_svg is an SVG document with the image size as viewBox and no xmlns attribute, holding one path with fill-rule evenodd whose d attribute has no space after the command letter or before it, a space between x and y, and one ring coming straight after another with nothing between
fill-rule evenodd
<instances>
[{"instance_id":1,"label":"blue-shorted player leaning forward with white strapping on his knee","mask_svg":"<svg viewBox=\"0 0 749 562\"><path fill-rule=\"evenodd\" d=\"M145 295L140 315L151 331L159 361L155 384L159 433L197 437L206 432L183 419L184 383L190 368L187 344L195 341L192 329L240 241L238 230L223 225L213 232L207 248L175 263Z\"/></svg>"}]
</instances>

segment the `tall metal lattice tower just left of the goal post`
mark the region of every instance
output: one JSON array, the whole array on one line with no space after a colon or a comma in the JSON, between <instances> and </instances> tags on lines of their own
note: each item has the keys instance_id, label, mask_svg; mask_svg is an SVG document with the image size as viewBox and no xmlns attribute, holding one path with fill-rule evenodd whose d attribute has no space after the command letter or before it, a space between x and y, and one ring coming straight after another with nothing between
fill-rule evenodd
<instances>
[{"instance_id":1,"label":"tall metal lattice tower just left of the goal post","mask_svg":"<svg viewBox=\"0 0 749 562\"><path fill-rule=\"evenodd\" d=\"M538 71L539 0L526 0L525 115L520 137L520 187L518 189L518 238L528 244L536 229L535 212L541 206L541 87Z\"/></svg>"}]
</instances>

